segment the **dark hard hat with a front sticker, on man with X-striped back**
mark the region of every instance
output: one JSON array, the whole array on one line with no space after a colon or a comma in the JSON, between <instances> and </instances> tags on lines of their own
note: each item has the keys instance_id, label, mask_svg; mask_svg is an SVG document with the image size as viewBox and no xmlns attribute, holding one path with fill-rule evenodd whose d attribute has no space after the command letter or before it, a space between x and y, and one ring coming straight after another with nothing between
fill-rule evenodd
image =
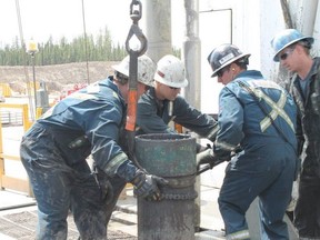
<instances>
[{"instance_id":1,"label":"dark hard hat with a front sticker, on man with X-striped back","mask_svg":"<svg viewBox=\"0 0 320 240\"><path fill-rule=\"evenodd\" d=\"M237 46L230 43L224 43L214 48L208 56L208 62L213 71L211 77L216 77L221 69L238 59L243 58L247 61L250 56L250 53L242 53Z\"/></svg>"}]
</instances>

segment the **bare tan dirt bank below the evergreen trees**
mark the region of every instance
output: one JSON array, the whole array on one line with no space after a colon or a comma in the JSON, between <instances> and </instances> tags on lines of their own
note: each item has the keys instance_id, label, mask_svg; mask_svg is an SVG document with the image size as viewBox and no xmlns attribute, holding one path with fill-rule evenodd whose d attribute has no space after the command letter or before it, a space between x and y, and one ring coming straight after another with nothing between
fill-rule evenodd
<instances>
[{"instance_id":1,"label":"bare tan dirt bank below the evergreen trees","mask_svg":"<svg viewBox=\"0 0 320 240\"><path fill-rule=\"evenodd\" d=\"M112 66L118 62L77 62L56 66L36 66L36 82L46 82L49 93L59 92L63 87L74 83L94 82L113 74ZM89 78L88 78L89 76ZM89 81L88 81L89 79ZM32 67L0 66L0 83L9 83L17 94L26 93L27 82L33 81Z\"/></svg>"}]
</instances>

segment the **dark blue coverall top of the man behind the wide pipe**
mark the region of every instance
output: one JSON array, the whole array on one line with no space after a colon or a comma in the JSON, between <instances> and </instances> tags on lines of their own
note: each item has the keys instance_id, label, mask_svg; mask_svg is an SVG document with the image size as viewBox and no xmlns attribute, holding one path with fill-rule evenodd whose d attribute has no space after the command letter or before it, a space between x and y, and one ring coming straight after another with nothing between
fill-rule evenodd
<instances>
[{"instance_id":1,"label":"dark blue coverall top of the man behind the wide pipe","mask_svg":"<svg viewBox=\"0 0 320 240\"><path fill-rule=\"evenodd\" d=\"M169 122L173 121L199 136L214 141L217 121L192 108L184 98L178 96L173 101L158 100L154 88L144 92L138 101L137 134L174 133Z\"/></svg>"}]
</instances>

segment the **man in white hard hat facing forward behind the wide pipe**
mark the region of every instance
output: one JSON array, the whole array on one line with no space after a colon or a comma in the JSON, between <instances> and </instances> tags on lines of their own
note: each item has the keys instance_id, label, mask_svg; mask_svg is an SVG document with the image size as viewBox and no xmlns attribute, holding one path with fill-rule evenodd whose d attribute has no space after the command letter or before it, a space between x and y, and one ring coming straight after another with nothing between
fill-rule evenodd
<instances>
[{"instance_id":1,"label":"man in white hard hat facing forward behind the wide pipe","mask_svg":"<svg viewBox=\"0 0 320 240\"><path fill-rule=\"evenodd\" d=\"M176 133L177 130L169 126L173 121L214 141L217 121L191 107L179 94L187 86L183 62L171 54L162 57L157 63L154 87L149 88L138 101L137 134Z\"/></svg>"}]
</instances>

